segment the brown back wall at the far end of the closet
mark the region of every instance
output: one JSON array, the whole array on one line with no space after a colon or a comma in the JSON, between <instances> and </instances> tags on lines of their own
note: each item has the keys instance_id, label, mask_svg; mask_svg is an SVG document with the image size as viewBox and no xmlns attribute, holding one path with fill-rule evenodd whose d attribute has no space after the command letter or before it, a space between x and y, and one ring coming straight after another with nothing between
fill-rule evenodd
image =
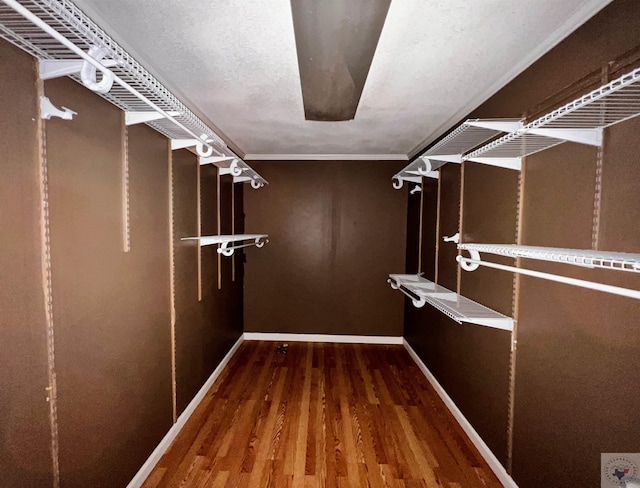
<instances>
[{"instance_id":1,"label":"brown back wall at the far end of the closet","mask_svg":"<svg viewBox=\"0 0 640 488\"><path fill-rule=\"evenodd\" d=\"M395 162L254 162L269 185L245 192L245 330L402 334L402 297L386 283L405 261L406 194Z\"/></svg>"}]
</instances>

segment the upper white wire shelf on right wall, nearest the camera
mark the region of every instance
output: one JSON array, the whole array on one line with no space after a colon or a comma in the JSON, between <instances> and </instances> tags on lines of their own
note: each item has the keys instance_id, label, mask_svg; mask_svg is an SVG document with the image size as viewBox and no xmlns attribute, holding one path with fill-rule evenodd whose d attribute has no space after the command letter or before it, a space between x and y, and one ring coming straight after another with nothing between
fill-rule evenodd
<instances>
[{"instance_id":1,"label":"upper white wire shelf on right wall, nearest the camera","mask_svg":"<svg viewBox=\"0 0 640 488\"><path fill-rule=\"evenodd\" d=\"M524 156L566 141L602 145L602 130L640 114L640 68L534 120L475 151L463 160L500 161L520 169Z\"/></svg>"}]
</instances>

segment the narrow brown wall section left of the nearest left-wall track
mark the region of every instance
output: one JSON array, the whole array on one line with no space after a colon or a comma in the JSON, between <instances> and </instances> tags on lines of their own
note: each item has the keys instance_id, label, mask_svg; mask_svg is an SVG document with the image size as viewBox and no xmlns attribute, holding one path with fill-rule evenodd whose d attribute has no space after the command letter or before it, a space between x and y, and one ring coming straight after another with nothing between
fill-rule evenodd
<instances>
[{"instance_id":1,"label":"narrow brown wall section left of the nearest left-wall track","mask_svg":"<svg viewBox=\"0 0 640 488\"><path fill-rule=\"evenodd\" d=\"M50 487L36 66L4 42L0 66L0 484Z\"/></svg>"}]
</instances>

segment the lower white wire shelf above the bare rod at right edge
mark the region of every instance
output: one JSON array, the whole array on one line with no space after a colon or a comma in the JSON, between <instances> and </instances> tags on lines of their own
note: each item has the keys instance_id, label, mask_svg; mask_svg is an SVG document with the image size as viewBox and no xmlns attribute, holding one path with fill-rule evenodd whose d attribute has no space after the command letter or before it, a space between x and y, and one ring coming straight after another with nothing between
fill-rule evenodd
<instances>
[{"instance_id":1,"label":"lower white wire shelf above the bare rod at right edge","mask_svg":"<svg viewBox=\"0 0 640 488\"><path fill-rule=\"evenodd\" d=\"M518 246L511 244L458 244L458 249L485 252L512 258L538 259L588 268L615 269L640 273L640 254L565 249L556 247Z\"/></svg>"}]
</instances>

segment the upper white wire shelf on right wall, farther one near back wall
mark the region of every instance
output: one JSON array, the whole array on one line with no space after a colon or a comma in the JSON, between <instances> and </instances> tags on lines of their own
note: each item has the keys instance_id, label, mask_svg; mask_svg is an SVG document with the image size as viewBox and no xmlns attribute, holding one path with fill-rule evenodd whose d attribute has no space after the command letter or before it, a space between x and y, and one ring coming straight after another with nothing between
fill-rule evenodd
<instances>
[{"instance_id":1,"label":"upper white wire shelf on right wall, farther one near back wall","mask_svg":"<svg viewBox=\"0 0 640 488\"><path fill-rule=\"evenodd\" d=\"M519 119L468 119L434 144L415 161L393 176L393 187L402 188L404 181L420 183L422 176L437 178L437 168L446 163L461 163L465 152L503 132L522 127Z\"/></svg>"}]
</instances>

